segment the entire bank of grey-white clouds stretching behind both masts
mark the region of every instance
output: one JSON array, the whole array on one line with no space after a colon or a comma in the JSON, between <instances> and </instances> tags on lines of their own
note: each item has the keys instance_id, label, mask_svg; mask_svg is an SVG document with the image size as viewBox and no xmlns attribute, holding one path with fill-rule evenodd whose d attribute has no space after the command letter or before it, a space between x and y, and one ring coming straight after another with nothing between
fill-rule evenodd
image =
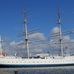
<instances>
[{"instance_id":1,"label":"entire bank of grey-white clouds stretching behind both masts","mask_svg":"<svg viewBox=\"0 0 74 74\"><path fill-rule=\"evenodd\" d=\"M52 33L53 36L55 36L55 33L59 33L59 28L58 27L54 27L52 29ZM29 48L30 48L30 54L33 53L39 53L39 52L43 52L46 49L46 51L48 51L47 49L49 49L49 51L51 51L54 54L58 54L60 52L60 40L59 40L59 36L55 36L54 38L50 39L50 41L46 41L46 37L44 36L43 33L33 33L30 34L28 36L29 40ZM39 42L35 42L34 40L37 40ZM49 45L47 44L49 42ZM63 36L62 39L62 44L63 44L63 49L65 51L70 51L72 50L71 53L74 52L74 39L71 39L69 35L65 35ZM22 49L25 52L25 44L23 43L23 41L12 41L10 43L11 47L14 49ZM22 52L23 52L22 51ZM18 52L18 51L17 51ZM22 53L21 51L19 53Z\"/></svg>"}]
</instances>

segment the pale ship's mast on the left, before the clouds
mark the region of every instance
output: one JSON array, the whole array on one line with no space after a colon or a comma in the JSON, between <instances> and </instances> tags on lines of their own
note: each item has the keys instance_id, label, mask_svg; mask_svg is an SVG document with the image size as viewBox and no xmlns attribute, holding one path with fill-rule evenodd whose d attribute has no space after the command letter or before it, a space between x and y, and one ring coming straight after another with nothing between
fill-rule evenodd
<instances>
[{"instance_id":1,"label":"pale ship's mast on the left, before the clouds","mask_svg":"<svg viewBox=\"0 0 74 74\"><path fill-rule=\"evenodd\" d=\"M24 27L25 27L25 42L26 42L26 49L27 49L27 57L29 59L29 46L28 46L28 30L27 30L27 18L24 19Z\"/></svg>"}]
</instances>

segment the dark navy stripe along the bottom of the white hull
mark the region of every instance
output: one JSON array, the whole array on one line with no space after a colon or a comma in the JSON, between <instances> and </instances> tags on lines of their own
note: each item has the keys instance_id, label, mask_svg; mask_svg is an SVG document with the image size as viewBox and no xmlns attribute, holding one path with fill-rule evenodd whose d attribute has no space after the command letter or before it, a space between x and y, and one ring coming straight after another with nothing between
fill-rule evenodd
<instances>
[{"instance_id":1,"label":"dark navy stripe along the bottom of the white hull","mask_svg":"<svg viewBox=\"0 0 74 74\"><path fill-rule=\"evenodd\" d=\"M37 64L37 65L6 65L0 64L0 68L33 68L33 67L63 67L74 66L74 64Z\"/></svg>"}]
</instances>

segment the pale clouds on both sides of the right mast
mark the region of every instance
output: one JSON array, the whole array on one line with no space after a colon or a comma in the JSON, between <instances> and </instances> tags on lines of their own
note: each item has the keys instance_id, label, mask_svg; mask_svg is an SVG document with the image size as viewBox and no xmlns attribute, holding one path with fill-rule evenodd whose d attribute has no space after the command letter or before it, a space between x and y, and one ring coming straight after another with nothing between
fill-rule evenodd
<instances>
[{"instance_id":1,"label":"pale clouds on both sides of the right mast","mask_svg":"<svg viewBox=\"0 0 74 74\"><path fill-rule=\"evenodd\" d=\"M57 51L57 53L59 54L59 52L61 50L60 49L59 31L60 30L58 27L54 27L52 29L52 34L51 34L53 37L49 41L51 51L54 54L55 54L55 51ZM74 39L71 39L70 35L63 35L61 38L62 38L62 47L64 50L64 54L74 54L74 50L73 50L74 49Z\"/></svg>"}]
</instances>

